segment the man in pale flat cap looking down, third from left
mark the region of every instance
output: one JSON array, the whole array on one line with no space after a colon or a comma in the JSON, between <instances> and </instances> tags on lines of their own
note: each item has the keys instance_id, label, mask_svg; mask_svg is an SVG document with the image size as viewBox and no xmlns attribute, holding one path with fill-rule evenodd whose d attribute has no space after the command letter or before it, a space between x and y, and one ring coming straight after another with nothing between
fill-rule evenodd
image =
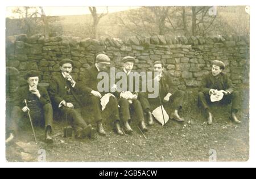
<instances>
[{"instance_id":1,"label":"man in pale flat cap looking down, third from left","mask_svg":"<svg viewBox=\"0 0 256 179\"><path fill-rule=\"evenodd\" d=\"M92 105L94 120L97 123L97 132L100 135L106 135L104 127L102 126L102 106L101 99L108 92L99 92L98 83L101 79L98 79L98 74L101 72L109 73L110 58L105 54L98 54L96 57L96 64L90 67L80 76L80 81L83 83L84 91L86 93L86 100L89 105ZM110 81L110 79L109 79ZM109 89L110 91L110 89ZM113 96L109 97L109 103L107 108L111 110L112 114L112 123L114 123L114 130L118 135L123 135L120 126L120 117L118 109L118 101Z\"/></svg>"}]
</instances>

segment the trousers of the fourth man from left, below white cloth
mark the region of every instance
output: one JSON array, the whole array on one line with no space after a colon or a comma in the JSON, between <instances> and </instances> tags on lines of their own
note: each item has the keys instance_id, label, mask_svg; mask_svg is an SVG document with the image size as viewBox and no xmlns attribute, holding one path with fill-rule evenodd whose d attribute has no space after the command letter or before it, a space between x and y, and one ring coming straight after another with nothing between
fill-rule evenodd
<instances>
[{"instance_id":1,"label":"trousers of the fourth man from left, below white cloth","mask_svg":"<svg viewBox=\"0 0 256 179\"><path fill-rule=\"evenodd\" d=\"M135 112L138 122L144 121L143 109L139 100L133 100L133 103L130 104L127 99L119 99L119 106L122 122L131 120L130 112Z\"/></svg>"}]
</instances>

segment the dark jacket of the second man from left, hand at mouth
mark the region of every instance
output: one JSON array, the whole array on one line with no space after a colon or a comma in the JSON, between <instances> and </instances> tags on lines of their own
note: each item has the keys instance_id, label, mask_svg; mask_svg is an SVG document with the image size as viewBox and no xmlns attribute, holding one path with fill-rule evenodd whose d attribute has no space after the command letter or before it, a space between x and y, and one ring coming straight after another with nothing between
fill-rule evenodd
<instances>
[{"instance_id":1,"label":"dark jacket of the second man from left, hand at mouth","mask_svg":"<svg viewBox=\"0 0 256 179\"><path fill-rule=\"evenodd\" d=\"M70 92L74 98L74 101L67 101L67 103L75 103L79 106L82 104L80 101L80 95L82 93L81 86L79 84L80 82L75 78L73 79L76 81L76 86L74 88L71 87L71 84L65 80L61 73L52 77L49 85L49 96L51 97L52 104L56 108L59 108L61 101L67 101L67 89L71 90Z\"/></svg>"}]
</instances>

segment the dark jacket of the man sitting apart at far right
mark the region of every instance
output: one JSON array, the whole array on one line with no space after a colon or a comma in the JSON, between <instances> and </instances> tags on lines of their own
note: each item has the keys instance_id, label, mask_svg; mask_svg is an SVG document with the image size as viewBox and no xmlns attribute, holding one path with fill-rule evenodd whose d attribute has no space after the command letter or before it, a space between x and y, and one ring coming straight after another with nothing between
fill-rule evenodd
<instances>
[{"instance_id":1,"label":"dark jacket of the man sitting apart at far right","mask_svg":"<svg viewBox=\"0 0 256 179\"><path fill-rule=\"evenodd\" d=\"M216 78L212 73L209 73L203 77L200 91L203 93L209 93L211 89L225 90L232 93L234 91L234 86L227 74L221 73Z\"/></svg>"}]
</instances>

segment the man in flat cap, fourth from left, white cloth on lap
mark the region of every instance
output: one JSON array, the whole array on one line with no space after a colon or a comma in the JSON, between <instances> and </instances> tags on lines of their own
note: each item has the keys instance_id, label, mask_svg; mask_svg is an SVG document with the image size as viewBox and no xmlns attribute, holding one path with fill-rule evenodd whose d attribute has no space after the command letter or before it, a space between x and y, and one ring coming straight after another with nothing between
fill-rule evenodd
<instances>
[{"instance_id":1,"label":"man in flat cap, fourth from left, white cloth on lap","mask_svg":"<svg viewBox=\"0 0 256 179\"><path fill-rule=\"evenodd\" d=\"M141 83L140 81L136 81L135 78L139 78L139 74L133 71L135 58L127 56L122 59L123 62L123 69L118 71L118 73L124 73L126 78L126 87L121 87L122 89L116 92L115 95L119 99L119 106L120 106L120 115L125 127L126 133L130 134L133 130L130 127L129 122L131 121L131 114L130 112L135 112L135 116L137 117L137 121L139 123L139 127L142 131L147 131L147 127L144 120L143 109L141 106L141 102L138 100L139 91L136 91L136 87L139 87ZM129 81L132 80L132 84ZM132 87L131 87L132 85ZM133 89L131 89L133 88ZM137 89L139 90L139 88Z\"/></svg>"}]
</instances>

